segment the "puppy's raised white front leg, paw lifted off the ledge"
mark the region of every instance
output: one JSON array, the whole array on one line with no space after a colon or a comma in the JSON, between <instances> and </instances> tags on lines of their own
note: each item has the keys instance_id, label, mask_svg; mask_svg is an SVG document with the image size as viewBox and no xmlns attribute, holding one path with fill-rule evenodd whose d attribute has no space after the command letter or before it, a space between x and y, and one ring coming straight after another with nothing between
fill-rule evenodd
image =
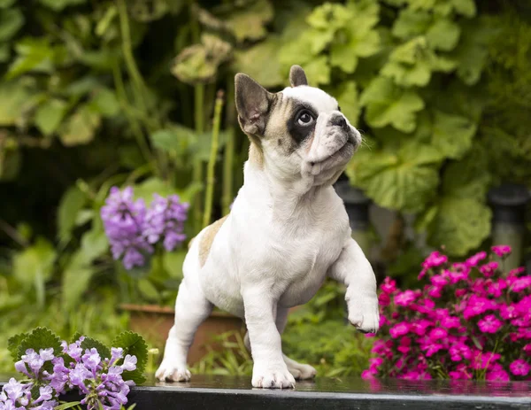
<instances>
[{"instance_id":1,"label":"puppy's raised white front leg, paw lifted off the ledge","mask_svg":"<svg viewBox=\"0 0 531 410\"><path fill-rule=\"evenodd\" d=\"M347 241L328 275L347 286L345 300L350 323L362 332L376 332L380 326L376 277L373 267L354 239Z\"/></svg>"}]
</instances>

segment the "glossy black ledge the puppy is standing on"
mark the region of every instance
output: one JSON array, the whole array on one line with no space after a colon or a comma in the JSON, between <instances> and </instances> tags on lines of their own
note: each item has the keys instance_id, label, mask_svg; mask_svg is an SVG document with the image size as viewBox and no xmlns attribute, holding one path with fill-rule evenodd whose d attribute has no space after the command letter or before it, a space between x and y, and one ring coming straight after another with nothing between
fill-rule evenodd
<instances>
[{"instance_id":1,"label":"glossy black ledge the puppy is standing on","mask_svg":"<svg viewBox=\"0 0 531 410\"><path fill-rule=\"evenodd\" d=\"M0 380L7 380L1 377ZM1 383L0 383L1 384ZM250 377L194 375L190 383L137 386L129 395L137 410L158 409L530 409L531 383L467 381L364 381L318 377L294 390L250 387Z\"/></svg>"}]
</instances>

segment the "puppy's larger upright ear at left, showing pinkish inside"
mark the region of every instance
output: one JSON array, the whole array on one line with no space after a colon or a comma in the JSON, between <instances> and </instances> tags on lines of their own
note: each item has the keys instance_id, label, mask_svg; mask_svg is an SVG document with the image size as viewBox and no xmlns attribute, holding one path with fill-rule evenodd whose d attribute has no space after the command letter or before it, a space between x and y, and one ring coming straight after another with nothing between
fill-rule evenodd
<instances>
[{"instance_id":1,"label":"puppy's larger upright ear at left, showing pinkish inside","mask_svg":"<svg viewBox=\"0 0 531 410\"><path fill-rule=\"evenodd\" d=\"M262 135L267 115L273 101L273 94L250 78L237 73L235 76L235 100L238 121L244 133Z\"/></svg>"}]
</instances>

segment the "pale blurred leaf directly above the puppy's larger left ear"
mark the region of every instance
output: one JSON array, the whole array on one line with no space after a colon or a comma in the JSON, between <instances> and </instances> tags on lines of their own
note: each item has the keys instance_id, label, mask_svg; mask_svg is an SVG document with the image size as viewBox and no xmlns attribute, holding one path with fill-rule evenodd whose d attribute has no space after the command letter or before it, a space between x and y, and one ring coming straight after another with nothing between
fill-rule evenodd
<instances>
[{"instance_id":1,"label":"pale blurred leaf directly above the puppy's larger left ear","mask_svg":"<svg viewBox=\"0 0 531 410\"><path fill-rule=\"evenodd\" d=\"M278 59L280 48L280 38L277 35L269 35L265 41L249 49L236 51L235 71L247 73L266 88L281 85L286 78L281 75Z\"/></svg>"}]
</instances>

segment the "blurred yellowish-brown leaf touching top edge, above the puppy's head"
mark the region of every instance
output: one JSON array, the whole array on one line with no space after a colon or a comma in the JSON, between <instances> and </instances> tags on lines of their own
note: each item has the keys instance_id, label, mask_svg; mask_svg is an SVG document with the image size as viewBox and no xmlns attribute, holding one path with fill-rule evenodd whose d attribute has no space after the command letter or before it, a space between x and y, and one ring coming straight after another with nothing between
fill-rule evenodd
<instances>
[{"instance_id":1,"label":"blurred yellowish-brown leaf touching top edge, above the puppy's head","mask_svg":"<svg viewBox=\"0 0 531 410\"><path fill-rule=\"evenodd\" d=\"M259 40L267 34L266 24L273 19L273 5L268 0L250 2L248 7L231 12L225 23L238 43Z\"/></svg>"}]
</instances>

